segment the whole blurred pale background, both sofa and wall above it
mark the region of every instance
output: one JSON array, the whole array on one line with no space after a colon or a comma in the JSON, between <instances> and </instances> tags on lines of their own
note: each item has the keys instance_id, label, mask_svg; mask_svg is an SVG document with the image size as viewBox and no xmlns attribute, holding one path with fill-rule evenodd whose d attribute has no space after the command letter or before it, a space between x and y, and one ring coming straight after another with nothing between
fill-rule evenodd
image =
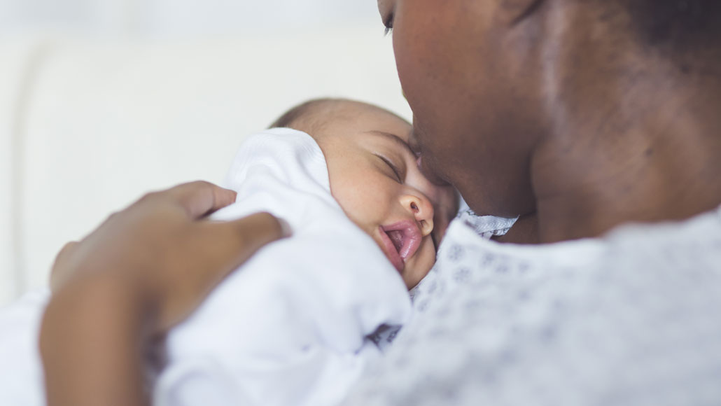
<instances>
[{"instance_id":1,"label":"whole blurred pale background, both sofa and wall above it","mask_svg":"<svg viewBox=\"0 0 721 406\"><path fill-rule=\"evenodd\" d=\"M313 97L410 118L372 0L0 0L0 306L149 190L222 182Z\"/></svg>"}]
</instances>

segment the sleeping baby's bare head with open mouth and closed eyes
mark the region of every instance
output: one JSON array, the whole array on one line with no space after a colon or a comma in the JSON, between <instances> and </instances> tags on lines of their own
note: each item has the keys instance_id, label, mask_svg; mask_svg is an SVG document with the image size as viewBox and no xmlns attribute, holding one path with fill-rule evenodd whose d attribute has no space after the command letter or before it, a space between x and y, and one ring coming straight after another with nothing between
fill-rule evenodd
<instances>
[{"instance_id":1,"label":"sleeping baby's bare head with open mouth and closed eyes","mask_svg":"<svg viewBox=\"0 0 721 406\"><path fill-rule=\"evenodd\" d=\"M430 183L410 149L412 127L399 116L351 100L312 100L272 125L304 131L325 155L333 197L381 247L408 288L435 263L458 194Z\"/></svg>"}]
</instances>

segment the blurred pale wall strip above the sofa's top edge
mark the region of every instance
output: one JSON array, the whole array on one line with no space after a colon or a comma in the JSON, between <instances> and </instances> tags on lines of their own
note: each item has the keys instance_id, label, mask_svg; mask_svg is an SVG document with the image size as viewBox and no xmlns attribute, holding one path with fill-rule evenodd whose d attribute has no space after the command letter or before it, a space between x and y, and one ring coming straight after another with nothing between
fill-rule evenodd
<instances>
[{"instance_id":1,"label":"blurred pale wall strip above the sofa's top edge","mask_svg":"<svg viewBox=\"0 0 721 406\"><path fill-rule=\"evenodd\" d=\"M0 35L63 30L92 36L286 35L376 25L373 0L0 0Z\"/></svg>"}]
</instances>

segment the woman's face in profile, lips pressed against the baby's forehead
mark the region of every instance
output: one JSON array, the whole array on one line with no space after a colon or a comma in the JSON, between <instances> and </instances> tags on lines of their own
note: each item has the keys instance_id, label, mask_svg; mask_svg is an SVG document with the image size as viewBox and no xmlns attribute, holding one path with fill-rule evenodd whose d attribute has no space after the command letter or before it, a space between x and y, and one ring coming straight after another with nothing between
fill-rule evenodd
<instances>
[{"instance_id":1,"label":"woman's face in profile, lips pressed against the baby's forehead","mask_svg":"<svg viewBox=\"0 0 721 406\"><path fill-rule=\"evenodd\" d=\"M513 21L526 2L378 1L423 171L456 186L479 214L534 211L528 165L541 125L528 113L539 110L536 49L534 35Z\"/></svg>"}]
</instances>

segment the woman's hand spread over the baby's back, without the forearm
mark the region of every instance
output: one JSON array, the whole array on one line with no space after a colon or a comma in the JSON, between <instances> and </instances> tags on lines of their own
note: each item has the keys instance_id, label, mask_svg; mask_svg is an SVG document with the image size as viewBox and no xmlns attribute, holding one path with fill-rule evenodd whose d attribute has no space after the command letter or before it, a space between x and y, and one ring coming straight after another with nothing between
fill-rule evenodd
<instances>
[{"instance_id":1,"label":"woman's hand spread over the baby's back, without the forearm","mask_svg":"<svg viewBox=\"0 0 721 406\"><path fill-rule=\"evenodd\" d=\"M61 250L50 277L53 292L99 274L131 281L158 312L154 332L164 332L260 247L286 235L269 213L227 222L201 219L235 198L208 182L149 193Z\"/></svg>"}]
</instances>

